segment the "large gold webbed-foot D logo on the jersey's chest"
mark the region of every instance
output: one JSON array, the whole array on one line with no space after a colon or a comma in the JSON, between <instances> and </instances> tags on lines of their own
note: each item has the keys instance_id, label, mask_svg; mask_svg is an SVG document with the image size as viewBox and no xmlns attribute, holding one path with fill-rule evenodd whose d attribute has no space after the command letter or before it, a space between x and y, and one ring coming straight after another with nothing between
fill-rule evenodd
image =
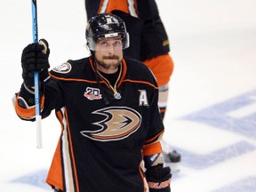
<instances>
[{"instance_id":1,"label":"large gold webbed-foot D logo on the jersey's chest","mask_svg":"<svg viewBox=\"0 0 256 192\"><path fill-rule=\"evenodd\" d=\"M91 140L124 140L136 132L141 124L140 114L132 108L109 107L94 111L92 114L106 116L106 118L93 123L100 126L99 130L81 132Z\"/></svg>"}]
</instances>

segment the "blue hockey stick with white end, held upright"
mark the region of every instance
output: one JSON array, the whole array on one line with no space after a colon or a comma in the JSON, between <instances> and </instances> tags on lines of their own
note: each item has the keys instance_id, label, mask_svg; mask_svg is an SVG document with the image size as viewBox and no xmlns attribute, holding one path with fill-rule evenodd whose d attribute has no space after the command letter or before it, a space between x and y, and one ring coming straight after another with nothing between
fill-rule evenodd
<instances>
[{"instance_id":1,"label":"blue hockey stick with white end, held upright","mask_svg":"<svg viewBox=\"0 0 256 192\"><path fill-rule=\"evenodd\" d=\"M32 30L33 30L33 43L38 42L37 34L37 8L36 0L32 0ZM34 83L35 83L35 104L36 104L36 146L37 148L43 148L42 144L42 127L40 115L40 92L39 92L39 74L38 71L34 73Z\"/></svg>"}]
</instances>

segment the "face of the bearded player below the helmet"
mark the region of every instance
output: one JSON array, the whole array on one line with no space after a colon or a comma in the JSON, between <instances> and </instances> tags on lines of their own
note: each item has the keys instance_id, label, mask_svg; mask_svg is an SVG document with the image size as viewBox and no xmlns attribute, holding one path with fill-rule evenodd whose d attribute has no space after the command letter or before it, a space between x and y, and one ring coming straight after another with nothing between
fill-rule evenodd
<instances>
[{"instance_id":1,"label":"face of the bearded player below the helmet","mask_svg":"<svg viewBox=\"0 0 256 192\"><path fill-rule=\"evenodd\" d=\"M95 44L97 68L102 72L114 73L123 59L121 36L100 38Z\"/></svg>"}]
</instances>

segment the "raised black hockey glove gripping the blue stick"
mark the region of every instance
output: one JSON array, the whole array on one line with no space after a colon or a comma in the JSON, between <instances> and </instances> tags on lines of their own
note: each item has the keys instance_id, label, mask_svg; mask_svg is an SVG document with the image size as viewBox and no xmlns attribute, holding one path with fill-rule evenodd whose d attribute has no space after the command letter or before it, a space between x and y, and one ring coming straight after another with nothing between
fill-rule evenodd
<instances>
[{"instance_id":1,"label":"raised black hockey glove gripping the blue stick","mask_svg":"<svg viewBox=\"0 0 256 192\"><path fill-rule=\"evenodd\" d=\"M48 76L50 49L45 39L38 43L28 44L21 56L22 78L27 87L34 86L34 72L38 71L40 81Z\"/></svg>"}]
</instances>

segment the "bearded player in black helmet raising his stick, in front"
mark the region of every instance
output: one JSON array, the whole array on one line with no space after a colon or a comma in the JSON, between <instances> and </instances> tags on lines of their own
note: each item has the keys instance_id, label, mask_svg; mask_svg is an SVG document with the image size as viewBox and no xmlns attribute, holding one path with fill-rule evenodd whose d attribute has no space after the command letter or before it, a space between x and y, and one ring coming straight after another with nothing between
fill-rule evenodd
<instances>
[{"instance_id":1,"label":"bearded player in black helmet raising his stick, in front","mask_svg":"<svg viewBox=\"0 0 256 192\"><path fill-rule=\"evenodd\" d=\"M92 17L85 34L92 55L68 60L49 74L44 39L44 45L28 44L22 52L17 115L35 120L33 73L39 71L41 115L55 109L62 128L46 182L65 192L171 191L155 77L140 61L123 57L129 34L116 15Z\"/></svg>"}]
</instances>

